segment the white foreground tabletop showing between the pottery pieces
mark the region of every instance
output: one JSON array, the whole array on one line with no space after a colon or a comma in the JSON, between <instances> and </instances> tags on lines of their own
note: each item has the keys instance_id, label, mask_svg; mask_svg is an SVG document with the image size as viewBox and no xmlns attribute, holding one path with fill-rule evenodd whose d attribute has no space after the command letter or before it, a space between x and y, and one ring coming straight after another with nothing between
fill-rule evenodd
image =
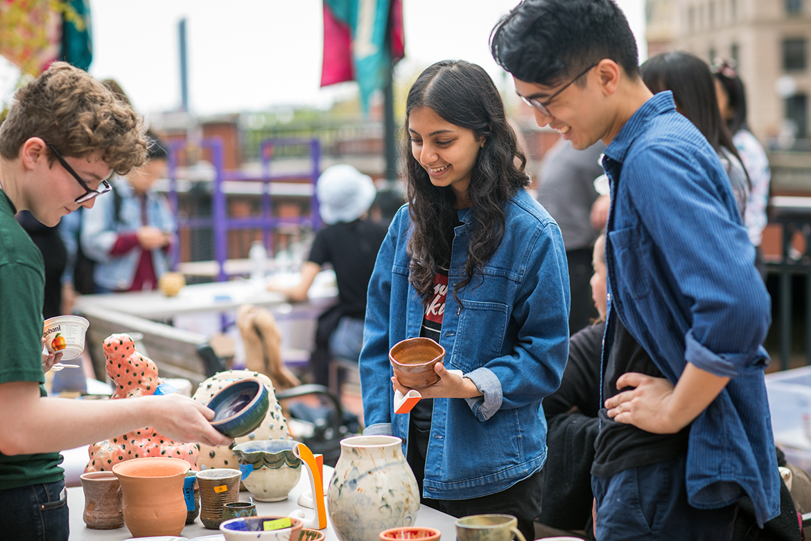
<instances>
[{"instance_id":1,"label":"white foreground tabletop showing between the pottery pieces","mask_svg":"<svg viewBox=\"0 0 811 541\"><path fill-rule=\"evenodd\" d=\"M327 492L329 486L329 479L333 474L333 468L324 466L324 493ZM256 512L260 515L277 515L287 516L290 515L295 509L301 508L297 501L298 496L302 492L309 491L310 479L307 473L302 470L302 477L299 479L298 484L290 492L290 496L285 501L275 503L264 503L256 501ZM250 492L240 492L239 499L248 501L251 496ZM71 487L67 489L67 505L71 509L71 541L122 541L122 539L131 539L132 535L127 526L122 526L116 530L92 530L84 525L82 520L82 513L84 512L84 492L81 487ZM314 517L315 511L312 509L303 509L307 513L307 517ZM417 526L426 526L429 528L436 528L443 534L444 539L454 539L456 537L456 527L454 522L456 518L440 513L436 509L431 509L425 505L419 506L419 513L417 514ZM324 541L337 541L337 535L333 530L332 523L327 517L327 527L323 530L326 539ZM200 517L195 519L193 524L187 525L183 528L181 535L187 539L194 539L195 537L202 537L204 535L217 535L221 533L220 530L208 530L200 522Z\"/></svg>"}]
</instances>

